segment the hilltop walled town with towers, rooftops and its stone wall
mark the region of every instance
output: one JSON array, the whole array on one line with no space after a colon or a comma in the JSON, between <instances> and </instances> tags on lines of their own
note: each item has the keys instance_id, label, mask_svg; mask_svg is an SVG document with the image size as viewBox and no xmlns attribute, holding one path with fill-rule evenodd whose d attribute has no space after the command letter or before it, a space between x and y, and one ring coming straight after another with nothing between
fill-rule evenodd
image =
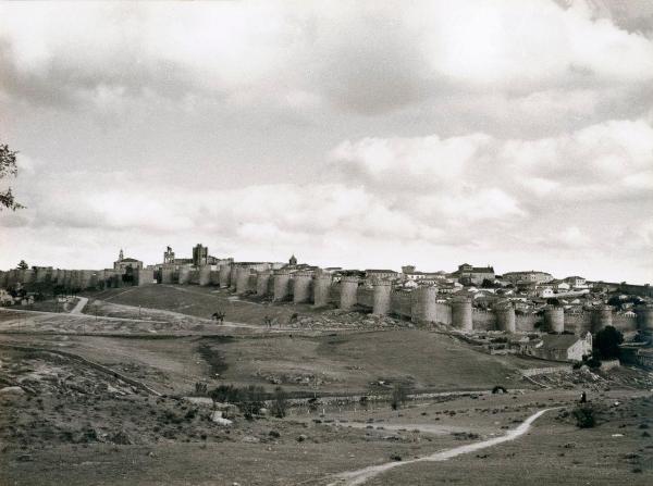
<instances>
[{"instance_id":1,"label":"hilltop walled town with towers, rooftops and its stone wall","mask_svg":"<svg viewBox=\"0 0 653 486\"><path fill-rule=\"evenodd\" d=\"M0 302L29 306L57 295L171 284L217 287L271 306L310 303L315 309L390 315L412 326L467 333L492 352L562 361L589 357L592 334L613 326L626 337L627 359L651 360L653 290L649 285L555 278L537 270L497 274L491 265L467 263L453 272L420 271L414 265L401 271L321 269L300 263L295 256L287 262L236 262L212 257L208 247L198 244L190 258L177 258L167 247L160 263L145 265L120 250L112 269L35 266L0 272ZM497 341L495 333L515 337Z\"/></svg>"}]
</instances>

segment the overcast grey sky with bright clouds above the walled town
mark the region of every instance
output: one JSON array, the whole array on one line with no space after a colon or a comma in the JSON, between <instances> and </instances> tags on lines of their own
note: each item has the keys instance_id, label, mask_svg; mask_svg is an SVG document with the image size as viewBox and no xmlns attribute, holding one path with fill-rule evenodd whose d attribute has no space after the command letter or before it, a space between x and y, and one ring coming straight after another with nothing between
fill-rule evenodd
<instances>
[{"instance_id":1,"label":"overcast grey sky with bright clouds above the walled town","mask_svg":"<svg viewBox=\"0 0 653 486\"><path fill-rule=\"evenodd\" d=\"M653 283L648 0L0 3L0 269L167 246Z\"/></svg>"}]
</instances>

